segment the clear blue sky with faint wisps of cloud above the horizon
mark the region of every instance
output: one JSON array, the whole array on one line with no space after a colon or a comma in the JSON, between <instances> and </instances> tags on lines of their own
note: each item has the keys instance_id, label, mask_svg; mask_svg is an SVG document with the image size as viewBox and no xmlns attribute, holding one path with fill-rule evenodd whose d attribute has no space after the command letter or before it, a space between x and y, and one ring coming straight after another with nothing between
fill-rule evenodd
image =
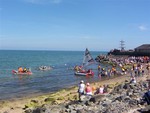
<instances>
[{"instance_id":1,"label":"clear blue sky with faint wisps of cloud above the horizon","mask_svg":"<svg viewBox=\"0 0 150 113\"><path fill-rule=\"evenodd\" d=\"M150 44L150 0L0 0L0 49L109 51Z\"/></svg>"}]
</instances>

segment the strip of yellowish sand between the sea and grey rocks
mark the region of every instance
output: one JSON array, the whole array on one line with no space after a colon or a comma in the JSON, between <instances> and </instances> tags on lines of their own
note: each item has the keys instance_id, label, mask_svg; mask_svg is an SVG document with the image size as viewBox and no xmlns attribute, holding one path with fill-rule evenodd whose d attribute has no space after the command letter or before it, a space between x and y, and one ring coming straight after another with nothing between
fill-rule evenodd
<instances>
[{"instance_id":1,"label":"strip of yellowish sand between the sea and grey rocks","mask_svg":"<svg viewBox=\"0 0 150 113\"><path fill-rule=\"evenodd\" d=\"M129 80L130 77L129 75L122 75L113 79L106 79L100 82L92 83L92 87L99 87L100 85L112 85L114 87L117 84L120 84L124 82L125 80ZM137 79L138 81L144 81L148 79L148 75L145 75L144 77L139 77ZM71 100L76 100L77 99L77 87L72 87L69 89L63 89L61 91L58 91L53 94L45 94L41 96L35 96L35 97L28 97L28 98L22 98L22 99L12 99L12 100L7 100L7 101L1 101L0 102L0 113L7 112L7 113L22 113L24 112L24 109L26 107L35 107L35 106L41 106L46 103L47 98L51 98L55 100L56 104L60 103L66 103ZM31 103L36 103L36 104L31 104Z\"/></svg>"}]
</instances>

